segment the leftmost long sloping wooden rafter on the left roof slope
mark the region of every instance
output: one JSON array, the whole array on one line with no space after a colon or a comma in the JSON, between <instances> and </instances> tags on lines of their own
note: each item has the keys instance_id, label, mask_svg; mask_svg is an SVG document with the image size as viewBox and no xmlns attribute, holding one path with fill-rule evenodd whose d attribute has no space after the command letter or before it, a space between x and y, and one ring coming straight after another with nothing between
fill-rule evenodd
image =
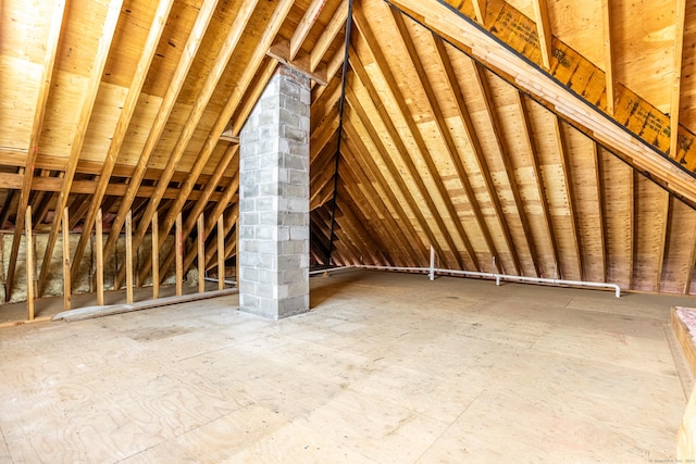
<instances>
[{"instance_id":1,"label":"leftmost long sloping wooden rafter on the left roof slope","mask_svg":"<svg viewBox=\"0 0 696 464\"><path fill-rule=\"evenodd\" d=\"M29 146L26 153L26 167L24 170L24 176L22 179L22 187L20 190L20 202L17 204L16 220L14 224L14 238L12 240L12 249L10 251L10 261L8 263L8 275L5 278L5 299L10 301L12 291L14 288L14 273L17 264L17 255L20 252L20 239L22 237L22 226L24 223L24 213L29 205L29 193L32 191L32 180L34 179L34 170L36 164L36 158L39 152L39 139L41 137L41 128L44 126L44 116L46 114L46 103L48 102L48 96L51 87L51 79L53 76L53 67L55 65L55 54L58 51L58 41L61 33L61 25L63 24L63 15L65 13L65 0L55 0L53 2L53 14L51 16L51 25L48 34L48 41L46 46L46 53L44 54L44 66L41 70L41 80L39 85L38 97L36 101L36 110L34 112L34 121L32 123L32 133L29 135ZM8 193L8 200L11 201L13 195ZM2 218L0 221L0 228L4 226L8 208L2 209ZM34 283L32 283L34 285ZM32 303L34 304L34 303Z\"/></svg>"}]
</instances>

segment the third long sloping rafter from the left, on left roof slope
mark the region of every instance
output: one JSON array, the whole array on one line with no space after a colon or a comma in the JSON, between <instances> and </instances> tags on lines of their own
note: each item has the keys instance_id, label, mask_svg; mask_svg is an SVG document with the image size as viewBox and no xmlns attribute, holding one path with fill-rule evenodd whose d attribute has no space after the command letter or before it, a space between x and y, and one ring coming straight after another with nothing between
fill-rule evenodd
<instances>
[{"instance_id":1,"label":"third long sloping rafter from the left, on left roof slope","mask_svg":"<svg viewBox=\"0 0 696 464\"><path fill-rule=\"evenodd\" d=\"M152 63L152 59L154 58L154 54L157 52L158 42L160 41L162 32L164 30L164 26L166 25L166 18L170 14L170 10L172 9L173 3L174 0L160 0L157 12L154 13L145 48L142 49L142 53L140 54L140 59L138 60L136 66L137 72L135 73L133 80L130 81L130 86L128 87L125 101L123 102L123 110L119 115L119 122L116 123L116 127L111 138L111 143L109 145L104 161L101 165L99 181L97 183L97 186L95 188L92 200L85 217L83 235L79 237L79 241L77 242L75 260L73 261L73 277L77 276L79 263L87 247L87 234L91 230L95 221L97 221L97 211L99 211L101 206L107 190L110 190L112 195L125 195L125 191L119 193L113 192L113 186L109 185L109 180L111 179L111 175L113 174L114 166L119 158L119 152L121 151L121 147L123 147L123 142L128 130L128 125L130 124L130 120L133 118L133 114L138 103L138 98L140 97L140 91L142 90L142 86L148 74L147 70L149 70L150 64Z\"/></svg>"}]
</instances>

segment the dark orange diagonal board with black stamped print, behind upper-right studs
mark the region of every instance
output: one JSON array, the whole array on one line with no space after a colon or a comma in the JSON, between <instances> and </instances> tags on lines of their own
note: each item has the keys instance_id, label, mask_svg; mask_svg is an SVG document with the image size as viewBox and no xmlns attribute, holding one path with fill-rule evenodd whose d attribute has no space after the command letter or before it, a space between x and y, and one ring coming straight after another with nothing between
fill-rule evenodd
<instances>
[{"instance_id":1,"label":"dark orange diagonal board with black stamped print, behind upper-right studs","mask_svg":"<svg viewBox=\"0 0 696 464\"><path fill-rule=\"evenodd\" d=\"M475 13L471 1L438 1L470 20L476 27L482 27L474 21ZM675 156L670 156L669 116L620 83L614 87L614 114L609 114L605 72L556 37L551 40L550 68L545 70L536 23L522 12L502 0L488 0L483 29L644 143L678 162L687 172L696 174L696 150L692 150L696 136L691 130L680 124L679 150Z\"/></svg>"}]
</instances>

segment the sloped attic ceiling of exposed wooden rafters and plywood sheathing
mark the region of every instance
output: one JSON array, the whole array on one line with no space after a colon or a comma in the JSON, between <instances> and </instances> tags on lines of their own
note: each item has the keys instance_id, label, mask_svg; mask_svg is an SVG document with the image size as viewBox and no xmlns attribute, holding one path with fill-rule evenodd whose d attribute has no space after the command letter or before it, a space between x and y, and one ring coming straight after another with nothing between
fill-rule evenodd
<instances>
[{"instance_id":1,"label":"sloped attic ceiling of exposed wooden rafters and plywood sheathing","mask_svg":"<svg viewBox=\"0 0 696 464\"><path fill-rule=\"evenodd\" d=\"M4 0L8 286L27 205L53 243L69 209L73 269L100 209L107 256L132 211L136 246L179 212L214 243L223 214L233 258L236 137L284 46L327 81L313 264L424 266L432 244L451 268L696 292L693 1L391 3L352 4L344 86L348 0Z\"/></svg>"}]
</instances>

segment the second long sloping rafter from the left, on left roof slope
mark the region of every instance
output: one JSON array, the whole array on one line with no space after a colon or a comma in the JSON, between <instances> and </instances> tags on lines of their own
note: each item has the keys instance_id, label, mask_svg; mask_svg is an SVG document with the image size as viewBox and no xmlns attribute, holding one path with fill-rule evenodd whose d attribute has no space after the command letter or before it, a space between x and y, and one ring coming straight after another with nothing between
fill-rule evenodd
<instances>
[{"instance_id":1,"label":"second long sloping rafter from the left, on left roof slope","mask_svg":"<svg viewBox=\"0 0 696 464\"><path fill-rule=\"evenodd\" d=\"M119 15L121 14L121 4L123 0L114 0L109 3L109 11L104 20L101 37L99 38L99 45L97 47L97 53L92 63L91 73L87 88L85 90L83 101L79 108L79 117L77 120L77 127L73 134L70 155L67 160L67 167L65 170L65 177L63 177L63 188L58 193L58 200L54 211L62 212L66 204L67 198L71 192L71 186L73 177L75 176L75 170L77 167L77 161L83 149L85 141L85 134L87 133L87 126L91 117L92 109L95 108L95 100L97 98L97 91L101 85L101 77L103 75L104 66L107 64L107 58L109 57L109 49L111 48L111 41L114 37L116 29L116 23L119 22ZM53 217L53 224L46 244L46 252L41 262L41 271L37 283L37 294L41 297L48 281L49 268L51 265L51 259L53 256L53 248L58 240L61 226L61 214L55 214Z\"/></svg>"}]
</instances>

